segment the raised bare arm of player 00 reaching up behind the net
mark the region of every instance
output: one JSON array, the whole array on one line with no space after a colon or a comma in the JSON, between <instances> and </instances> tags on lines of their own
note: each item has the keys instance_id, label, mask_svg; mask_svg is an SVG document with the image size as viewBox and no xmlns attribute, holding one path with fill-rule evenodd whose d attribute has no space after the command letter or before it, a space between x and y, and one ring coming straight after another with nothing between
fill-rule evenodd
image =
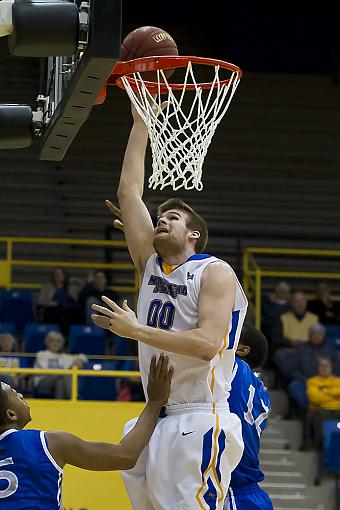
<instances>
[{"instance_id":1,"label":"raised bare arm of player 00 reaching up behind the net","mask_svg":"<svg viewBox=\"0 0 340 510\"><path fill-rule=\"evenodd\" d=\"M131 258L137 270L143 272L148 258L154 252L154 228L142 200L148 132L134 106L132 114L134 123L125 151L117 196Z\"/></svg>"}]
</instances>

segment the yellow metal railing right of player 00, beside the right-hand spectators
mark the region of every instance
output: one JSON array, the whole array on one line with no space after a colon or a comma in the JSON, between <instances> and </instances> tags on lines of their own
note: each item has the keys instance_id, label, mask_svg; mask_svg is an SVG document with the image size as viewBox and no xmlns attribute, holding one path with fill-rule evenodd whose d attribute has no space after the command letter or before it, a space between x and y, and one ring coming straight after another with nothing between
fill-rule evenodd
<instances>
[{"instance_id":1,"label":"yellow metal railing right of player 00, beside the right-hand spectators","mask_svg":"<svg viewBox=\"0 0 340 510\"><path fill-rule=\"evenodd\" d=\"M243 285L248 296L250 306L255 315L257 328L261 327L261 293L264 278L301 278L301 279L329 279L340 280L340 273L331 271L303 271L272 270L260 266L257 255L278 256L286 255L299 257L339 258L340 250L309 250L293 248L246 248L243 254Z\"/></svg>"}]
</instances>

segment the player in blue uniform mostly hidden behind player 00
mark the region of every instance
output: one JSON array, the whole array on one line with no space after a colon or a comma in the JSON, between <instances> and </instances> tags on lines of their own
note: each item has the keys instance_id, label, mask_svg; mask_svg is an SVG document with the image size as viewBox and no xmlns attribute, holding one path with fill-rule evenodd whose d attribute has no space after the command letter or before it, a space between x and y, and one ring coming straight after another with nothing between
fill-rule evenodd
<instances>
[{"instance_id":1,"label":"player in blue uniform mostly hidden behind player 00","mask_svg":"<svg viewBox=\"0 0 340 510\"><path fill-rule=\"evenodd\" d=\"M268 494L258 485L264 479L259 466L260 437L267 425L270 397L253 371L263 365L267 352L266 337L252 325L244 324L229 397L230 411L242 422L244 452L231 474L225 510L273 510Z\"/></svg>"}]
</instances>

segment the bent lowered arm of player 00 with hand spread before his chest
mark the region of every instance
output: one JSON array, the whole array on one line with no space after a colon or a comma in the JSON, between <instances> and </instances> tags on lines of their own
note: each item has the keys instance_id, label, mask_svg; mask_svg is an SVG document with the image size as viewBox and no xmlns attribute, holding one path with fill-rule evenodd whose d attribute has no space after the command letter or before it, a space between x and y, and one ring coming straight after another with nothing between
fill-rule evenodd
<instances>
[{"instance_id":1,"label":"bent lowered arm of player 00 with hand spread before his chest","mask_svg":"<svg viewBox=\"0 0 340 510\"><path fill-rule=\"evenodd\" d=\"M231 269L222 262L210 264L202 274L198 302L198 325L187 331L164 331L144 326L126 302L123 308L110 299L103 301L111 309L100 305L92 308L102 315L92 315L97 326L110 329L120 336L132 338L158 349L211 360L222 346L234 308L236 283Z\"/></svg>"}]
</instances>

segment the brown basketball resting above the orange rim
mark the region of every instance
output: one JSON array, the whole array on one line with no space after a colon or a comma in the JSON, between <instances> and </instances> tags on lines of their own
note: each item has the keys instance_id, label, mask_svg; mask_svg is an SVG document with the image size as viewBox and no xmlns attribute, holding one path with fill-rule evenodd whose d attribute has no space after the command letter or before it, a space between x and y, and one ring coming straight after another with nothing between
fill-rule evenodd
<instances>
[{"instance_id":1,"label":"brown basketball resting above the orange rim","mask_svg":"<svg viewBox=\"0 0 340 510\"><path fill-rule=\"evenodd\" d=\"M177 56L178 49L171 35L158 27L136 28L125 37L120 47L120 59L125 61L159 55ZM169 78L172 73L173 69L167 69L165 76ZM145 72L143 78L156 81L157 73L156 71Z\"/></svg>"}]
</instances>

